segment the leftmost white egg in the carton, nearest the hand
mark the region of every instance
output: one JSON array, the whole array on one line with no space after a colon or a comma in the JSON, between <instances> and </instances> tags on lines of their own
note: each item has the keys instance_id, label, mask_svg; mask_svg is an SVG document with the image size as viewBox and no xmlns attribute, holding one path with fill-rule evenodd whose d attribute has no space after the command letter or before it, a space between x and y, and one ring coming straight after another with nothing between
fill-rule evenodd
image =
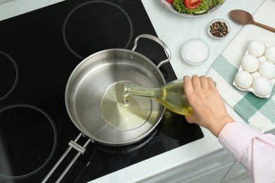
<instances>
[{"instance_id":1,"label":"leftmost white egg in the carton, nearest the hand","mask_svg":"<svg viewBox=\"0 0 275 183\"><path fill-rule=\"evenodd\" d=\"M238 85L238 87L242 89L247 89L251 87L251 84L253 82L253 77L250 75L249 72L245 70L240 70L235 75L235 82Z\"/></svg>"}]
</instances>

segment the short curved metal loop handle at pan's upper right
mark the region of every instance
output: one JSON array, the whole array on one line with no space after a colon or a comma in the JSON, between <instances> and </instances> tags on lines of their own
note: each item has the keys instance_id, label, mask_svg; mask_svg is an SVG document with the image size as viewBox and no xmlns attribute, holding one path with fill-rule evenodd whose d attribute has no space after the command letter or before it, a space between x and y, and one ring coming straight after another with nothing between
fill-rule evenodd
<instances>
[{"instance_id":1,"label":"short curved metal loop handle at pan's upper right","mask_svg":"<svg viewBox=\"0 0 275 183\"><path fill-rule=\"evenodd\" d=\"M151 39L154 42L157 42L158 44L160 44L164 48L164 51L165 51L166 56L167 56L167 59L165 59L164 61L161 61L157 65L157 68L160 68L161 65L163 65L164 63L168 63L170 61L170 59L171 59L171 51L170 51L169 47L163 41L161 41L161 39L159 39L158 37L154 37L153 35L150 35L150 34L140 34L138 37L136 37L132 51L135 51L135 49L137 48L137 46L138 46L138 39L140 39L140 38Z\"/></svg>"}]
</instances>

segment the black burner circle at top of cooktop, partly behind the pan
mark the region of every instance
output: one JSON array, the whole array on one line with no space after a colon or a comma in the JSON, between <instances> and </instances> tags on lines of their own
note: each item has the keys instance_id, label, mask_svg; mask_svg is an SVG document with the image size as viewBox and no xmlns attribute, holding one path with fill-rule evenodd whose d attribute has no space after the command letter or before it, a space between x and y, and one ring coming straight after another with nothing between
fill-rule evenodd
<instances>
[{"instance_id":1,"label":"black burner circle at top of cooktop, partly behind the pan","mask_svg":"<svg viewBox=\"0 0 275 183\"><path fill-rule=\"evenodd\" d=\"M68 50L81 59L105 49L127 49L133 39L130 16L109 1L76 6L68 13L62 31Z\"/></svg>"}]
</instances>

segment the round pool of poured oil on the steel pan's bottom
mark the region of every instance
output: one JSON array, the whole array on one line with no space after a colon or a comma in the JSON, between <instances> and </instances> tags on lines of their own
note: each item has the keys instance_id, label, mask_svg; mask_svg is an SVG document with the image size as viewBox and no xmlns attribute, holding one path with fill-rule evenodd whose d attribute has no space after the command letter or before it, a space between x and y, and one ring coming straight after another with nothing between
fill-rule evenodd
<instances>
[{"instance_id":1,"label":"round pool of poured oil on the steel pan's bottom","mask_svg":"<svg viewBox=\"0 0 275 183\"><path fill-rule=\"evenodd\" d=\"M123 104L123 89L126 81L111 84L102 97L100 110L104 121L118 130L134 130L140 127L152 114L152 100L128 96ZM135 84L128 81L129 84Z\"/></svg>"}]
</instances>

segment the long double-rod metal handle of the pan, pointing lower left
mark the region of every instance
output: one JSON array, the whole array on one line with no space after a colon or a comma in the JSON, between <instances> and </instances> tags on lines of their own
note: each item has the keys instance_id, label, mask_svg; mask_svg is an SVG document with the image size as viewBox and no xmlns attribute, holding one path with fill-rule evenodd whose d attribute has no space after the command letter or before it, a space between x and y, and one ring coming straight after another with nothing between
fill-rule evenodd
<instances>
[{"instance_id":1,"label":"long double-rod metal handle of the pan, pointing lower left","mask_svg":"<svg viewBox=\"0 0 275 183\"><path fill-rule=\"evenodd\" d=\"M70 141L69 142L68 149L65 151L65 153L63 153L63 155L61 156L61 158L59 158L59 160L56 162L56 164L54 165L54 167L51 168L51 170L49 171L49 173L42 180L42 183L47 182L47 180L49 179L49 177L51 177L51 175L54 173L54 171L56 170L56 168L60 165L60 163L62 162L62 160L68 155L68 153L71 151L72 148L75 149L76 151L78 151L78 153L75 155L75 157L73 158L73 160L71 160L71 163L62 172L62 174L59 176L59 179L57 179L56 182L61 182L61 180L66 175L66 173L68 172L68 170L70 170L71 167L73 166L73 163L75 163L75 161L78 159L78 157L82 153L85 153L85 150L86 150L85 148L90 143L90 141L92 141L92 139L88 139L83 146L80 146L79 144L77 144L77 141L78 141L78 139L80 139L80 137L82 137L82 133L78 134L78 137L76 137L74 141Z\"/></svg>"}]
</instances>

